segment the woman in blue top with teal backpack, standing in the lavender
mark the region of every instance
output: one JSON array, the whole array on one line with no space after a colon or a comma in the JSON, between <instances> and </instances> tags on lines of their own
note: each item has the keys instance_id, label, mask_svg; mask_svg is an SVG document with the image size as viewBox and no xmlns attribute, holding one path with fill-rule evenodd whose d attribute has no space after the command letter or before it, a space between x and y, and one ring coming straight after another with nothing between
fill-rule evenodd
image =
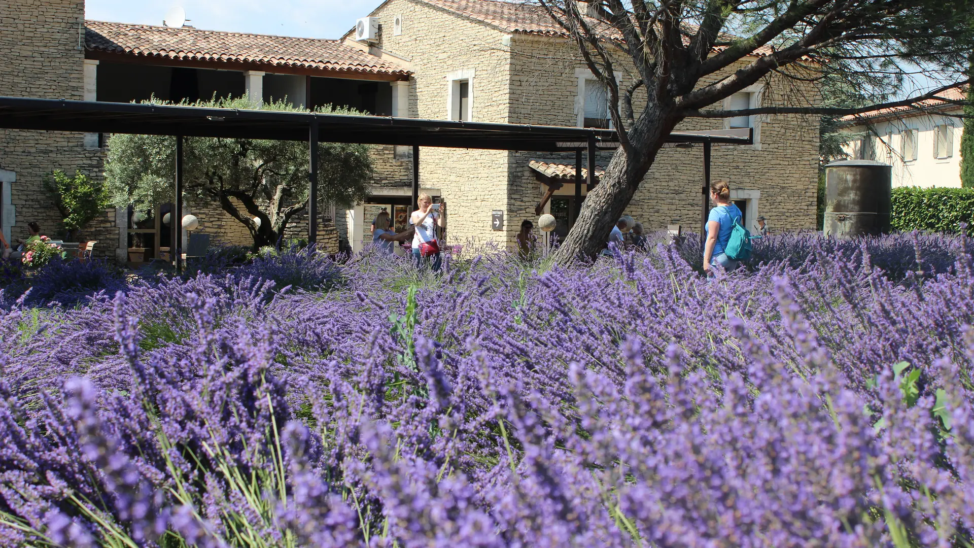
<instances>
[{"instance_id":1,"label":"woman in blue top with teal backpack, standing in the lavender","mask_svg":"<svg viewBox=\"0 0 974 548\"><path fill-rule=\"evenodd\" d=\"M741 224L744 215L731 203L728 181L710 183L710 199L715 206L707 217L707 241L703 246L703 271L708 276L715 266L734 270L751 252L750 234Z\"/></svg>"}]
</instances>

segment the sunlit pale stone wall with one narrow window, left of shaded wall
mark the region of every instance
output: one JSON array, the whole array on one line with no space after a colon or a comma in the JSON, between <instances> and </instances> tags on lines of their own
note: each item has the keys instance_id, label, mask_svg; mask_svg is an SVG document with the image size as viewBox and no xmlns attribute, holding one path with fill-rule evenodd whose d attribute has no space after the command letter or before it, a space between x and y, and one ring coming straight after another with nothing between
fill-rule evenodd
<instances>
[{"instance_id":1,"label":"sunlit pale stone wall with one narrow window, left of shaded wall","mask_svg":"<svg viewBox=\"0 0 974 548\"><path fill-rule=\"evenodd\" d=\"M465 70L473 73L472 121L508 121L510 54L503 32L409 0L391 0L372 15L381 28L376 45L412 63L410 116L448 119L450 73ZM402 16L399 36L392 32L396 15ZM420 185L441 190L450 244L504 242L504 235L516 233L509 215L506 232L490 227L491 211L507 209L507 157L506 151L494 150L420 150Z\"/></svg>"}]
</instances>

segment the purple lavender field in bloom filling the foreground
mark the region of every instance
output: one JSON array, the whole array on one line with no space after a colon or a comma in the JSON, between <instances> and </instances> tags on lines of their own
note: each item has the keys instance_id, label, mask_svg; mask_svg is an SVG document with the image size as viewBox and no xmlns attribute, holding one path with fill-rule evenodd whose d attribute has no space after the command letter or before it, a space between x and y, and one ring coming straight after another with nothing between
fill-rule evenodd
<instances>
[{"instance_id":1,"label":"purple lavender field in bloom filling the foreground","mask_svg":"<svg viewBox=\"0 0 974 548\"><path fill-rule=\"evenodd\" d=\"M0 295L0 544L972 546L971 253L58 265Z\"/></svg>"}]
</instances>

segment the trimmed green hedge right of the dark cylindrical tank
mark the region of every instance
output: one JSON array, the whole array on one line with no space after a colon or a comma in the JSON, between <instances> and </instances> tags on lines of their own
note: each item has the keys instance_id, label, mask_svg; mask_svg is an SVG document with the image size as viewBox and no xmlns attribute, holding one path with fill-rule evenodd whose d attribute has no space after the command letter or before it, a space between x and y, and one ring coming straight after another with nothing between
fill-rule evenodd
<instances>
[{"instance_id":1,"label":"trimmed green hedge right of the dark cylindrical tank","mask_svg":"<svg viewBox=\"0 0 974 548\"><path fill-rule=\"evenodd\" d=\"M958 232L961 222L974 236L974 188L893 189L891 224L894 230Z\"/></svg>"}]
</instances>

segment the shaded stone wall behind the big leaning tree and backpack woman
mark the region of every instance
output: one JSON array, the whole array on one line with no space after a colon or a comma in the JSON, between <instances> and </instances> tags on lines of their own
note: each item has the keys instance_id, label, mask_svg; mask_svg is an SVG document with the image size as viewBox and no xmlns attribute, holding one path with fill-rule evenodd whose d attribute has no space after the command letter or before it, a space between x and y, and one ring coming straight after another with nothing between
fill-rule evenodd
<instances>
[{"instance_id":1,"label":"shaded stone wall behind the big leaning tree and backpack woman","mask_svg":"<svg viewBox=\"0 0 974 548\"><path fill-rule=\"evenodd\" d=\"M584 63L575 45L564 40L515 35L511 41L512 65L510 122L575 126L578 123L578 70ZM738 61L724 72L701 82L706 85L743 66ZM631 83L628 65L618 62L620 87ZM763 83L763 105L803 106L820 101L813 85L801 84L782 76ZM634 108L639 112L645 96L637 94ZM714 146L711 178L724 178L731 189L760 191L758 215L768 217L774 230L810 229L815 226L815 196L818 175L818 117L815 115L777 115L758 117L760 145ZM763 119L761 119L763 118ZM688 119L677 130L724 129L723 120ZM599 164L612 155L599 154ZM573 155L512 153L508 211L531 218L534 204L541 198L537 180L527 167L528 158L560 159L574 163ZM664 148L659 151L626 209L651 229L678 222L689 230L700 225L700 187L703 181L703 151ZM522 200L518 197L525 197ZM511 215L513 217L513 215ZM749 219L753 220L753 219Z\"/></svg>"}]
</instances>

